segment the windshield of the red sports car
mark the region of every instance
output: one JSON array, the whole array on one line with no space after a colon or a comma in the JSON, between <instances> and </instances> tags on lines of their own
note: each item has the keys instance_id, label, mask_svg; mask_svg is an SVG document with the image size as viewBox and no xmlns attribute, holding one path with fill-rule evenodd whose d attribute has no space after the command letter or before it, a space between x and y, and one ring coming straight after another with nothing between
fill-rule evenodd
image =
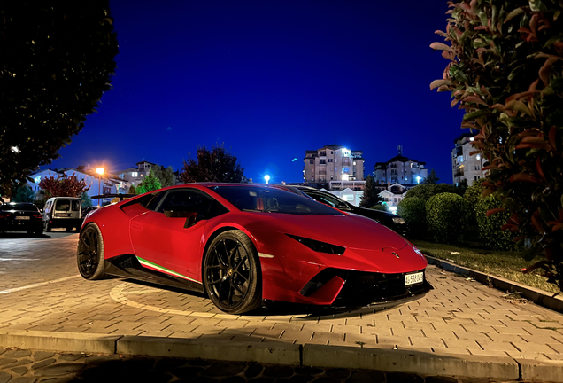
<instances>
[{"instance_id":1,"label":"windshield of the red sports car","mask_svg":"<svg viewBox=\"0 0 563 383\"><path fill-rule=\"evenodd\" d=\"M209 189L243 211L294 215L343 215L332 207L289 191L260 186L209 186Z\"/></svg>"}]
</instances>

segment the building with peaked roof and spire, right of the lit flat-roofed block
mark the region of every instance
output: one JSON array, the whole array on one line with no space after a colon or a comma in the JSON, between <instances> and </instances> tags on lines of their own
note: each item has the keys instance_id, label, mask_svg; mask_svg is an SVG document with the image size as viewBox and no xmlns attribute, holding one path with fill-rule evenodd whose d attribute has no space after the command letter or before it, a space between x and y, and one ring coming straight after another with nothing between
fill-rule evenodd
<instances>
[{"instance_id":1,"label":"building with peaked roof and spire, right of the lit flat-roofed block","mask_svg":"<svg viewBox=\"0 0 563 383\"><path fill-rule=\"evenodd\" d=\"M428 177L426 162L399 155L387 162L376 162L374 179L378 184L420 184Z\"/></svg>"}]
</instances>

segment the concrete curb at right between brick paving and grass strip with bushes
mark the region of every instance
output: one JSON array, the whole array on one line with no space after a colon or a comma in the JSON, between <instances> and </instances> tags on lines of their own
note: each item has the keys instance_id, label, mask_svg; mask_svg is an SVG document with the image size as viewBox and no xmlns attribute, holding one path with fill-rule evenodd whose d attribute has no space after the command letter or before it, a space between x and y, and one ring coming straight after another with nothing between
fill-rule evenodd
<instances>
[{"instance_id":1,"label":"concrete curb at right between brick paving and grass strip with bushes","mask_svg":"<svg viewBox=\"0 0 563 383\"><path fill-rule=\"evenodd\" d=\"M509 293L521 293L521 295L528 301L533 301L539 306L563 313L563 294L554 296L552 293L545 292L544 290L540 290L535 287L521 285L518 282L513 282L503 277L496 277L490 274L485 274L481 271L461 267L455 263L443 261L429 255L426 255L426 258L428 259L429 264L436 265L443 270L472 277L476 281L481 282L483 285L493 285L498 290Z\"/></svg>"}]
</instances>

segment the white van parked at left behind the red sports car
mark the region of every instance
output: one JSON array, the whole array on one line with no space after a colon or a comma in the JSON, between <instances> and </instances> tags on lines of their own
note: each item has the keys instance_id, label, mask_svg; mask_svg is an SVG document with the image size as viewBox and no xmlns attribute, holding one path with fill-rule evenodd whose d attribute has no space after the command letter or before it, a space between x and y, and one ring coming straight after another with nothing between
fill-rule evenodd
<instances>
[{"instance_id":1,"label":"white van parked at left behind the red sports car","mask_svg":"<svg viewBox=\"0 0 563 383\"><path fill-rule=\"evenodd\" d=\"M43 209L43 230L65 228L81 230L81 199L75 197L53 197L47 200Z\"/></svg>"}]
</instances>

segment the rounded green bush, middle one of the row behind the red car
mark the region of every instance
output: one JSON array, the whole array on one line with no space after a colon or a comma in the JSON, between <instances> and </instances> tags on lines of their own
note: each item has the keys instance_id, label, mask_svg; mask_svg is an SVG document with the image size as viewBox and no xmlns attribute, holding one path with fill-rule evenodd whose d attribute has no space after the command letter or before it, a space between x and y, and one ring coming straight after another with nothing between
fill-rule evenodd
<instances>
[{"instance_id":1,"label":"rounded green bush, middle one of the row behind the red car","mask_svg":"<svg viewBox=\"0 0 563 383\"><path fill-rule=\"evenodd\" d=\"M458 194L440 193L426 202L428 231L437 242L456 243L467 228L467 201Z\"/></svg>"}]
</instances>

